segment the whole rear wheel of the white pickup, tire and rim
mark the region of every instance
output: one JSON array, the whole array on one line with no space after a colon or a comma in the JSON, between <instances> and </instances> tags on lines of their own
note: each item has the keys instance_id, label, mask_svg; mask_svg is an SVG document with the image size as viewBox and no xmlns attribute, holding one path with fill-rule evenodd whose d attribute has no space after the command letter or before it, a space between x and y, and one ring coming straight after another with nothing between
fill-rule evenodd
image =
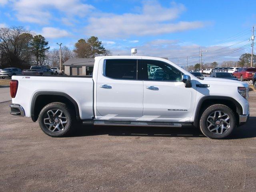
<instances>
[{"instance_id":1,"label":"whole rear wheel of the white pickup, tire and rim","mask_svg":"<svg viewBox=\"0 0 256 192\"><path fill-rule=\"evenodd\" d=\"M70 134L74 117L64 103L54 102L42 108L38 122L42 131L52 137Z\"/></svg>"}]
</instances>

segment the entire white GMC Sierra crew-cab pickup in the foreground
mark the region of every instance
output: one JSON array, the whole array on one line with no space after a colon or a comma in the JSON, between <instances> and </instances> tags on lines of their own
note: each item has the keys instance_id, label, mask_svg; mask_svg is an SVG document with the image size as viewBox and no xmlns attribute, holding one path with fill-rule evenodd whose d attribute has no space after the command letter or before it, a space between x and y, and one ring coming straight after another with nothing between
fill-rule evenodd
<instances>
[{"instance_id":1,"label":"entire white GMC Sierra crew-cab pickup in the foreground","mask_svg":"<svg viewBox=\"0 0 256 192\"><path fill-rule=\"evenodd\" d=\"M151 72L151 68L157 68ZM100 56L93 76L12 76L12 115L31 117L49 136L75 122L108 126L194 126L229 136L250 114L248 85L198 79L163 58Z\"/></svg>"}]
</instances>

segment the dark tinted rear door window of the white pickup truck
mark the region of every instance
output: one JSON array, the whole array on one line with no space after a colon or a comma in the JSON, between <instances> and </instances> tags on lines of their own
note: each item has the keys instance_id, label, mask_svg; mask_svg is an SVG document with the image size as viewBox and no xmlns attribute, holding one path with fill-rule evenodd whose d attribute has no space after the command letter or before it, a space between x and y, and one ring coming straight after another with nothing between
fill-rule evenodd
<instances>
[{"instance_id":1,"label":"dark tinted rear door window of the white pickup truck","mask_svg":"<svg viewBox=\"0 0 256 192\"><path fill-rule=\"evenodd\" d=\"M105 63L105 76L114 79L137 79L137 60L109 59Z\"/></svg>"}]
</instances>

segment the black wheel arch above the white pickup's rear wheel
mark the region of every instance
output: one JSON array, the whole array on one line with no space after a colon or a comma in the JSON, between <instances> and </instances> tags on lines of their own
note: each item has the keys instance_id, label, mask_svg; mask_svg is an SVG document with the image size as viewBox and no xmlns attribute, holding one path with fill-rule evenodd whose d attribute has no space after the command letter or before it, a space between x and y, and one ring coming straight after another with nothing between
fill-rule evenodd
<instances>
[{"instance_id":1,"label":"black wheel arch above the white pickup's rear wheel","mask_svg":"<svg viewBox=\"0 0 256 192\"><path fill-rule=\"evenodd\" d=\"M68 104L70 108L76 113L76 119L80 119L80 112L77 102L68 94L63 92L54 92L54 91L40 91L36 92L32 98L30 116L33 122L36 122L38 115L42 108L52 102L63 102Z\"/></svg>"}]
</instances>

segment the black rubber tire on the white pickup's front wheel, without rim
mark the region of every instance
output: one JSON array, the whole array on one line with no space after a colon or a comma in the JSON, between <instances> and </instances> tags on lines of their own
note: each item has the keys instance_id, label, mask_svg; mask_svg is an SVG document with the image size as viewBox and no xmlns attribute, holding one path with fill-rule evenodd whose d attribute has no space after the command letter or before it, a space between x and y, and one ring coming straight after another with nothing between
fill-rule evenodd
<instances>
[{"instance_id":1,"label":"black rubber tire on the white pickup's front wheel, without rim","mask_svg":"<svg viewBox=\"0 0 256 192\"><path fill-rule=\"evenodd\" d=\"M208 120L209 116L212 116L211 114L213 114L214 112L217 112L217 111L224 112L225 114L227 114L229 116L229 120L227 120L228 123L230 124L229 128L226 129L225 131L223 131L222 134L219 134L220 130L221 130L221 124L222 124L220 122L222 122L222 120L219 121L218 118L216 118L216 120L218 121L218 126L220 126L220 128L218 128L218 130L214 130L215 128L217 128L217 121L216 121L216 124L214 123L214 125L216 125L216 127L215 126L212 127L213 126L212 125L211 128L210 128L211 130L214 130L214 131L211 132L208 129L208 124L210 125L210 123L207 120ZM236 116L235 116L234 112L228 106L223 105L223 104L214 104L212 106L209 106L203 112L203 114L202 114L202 116L200 118L200 130L201 130L201 132L206 137L209 137L211 139L224 139L224 138L227 138L233 132L235 127L236 127ZM216 132L218 132L218 134Z\"/></svg>"}]
</instances>

